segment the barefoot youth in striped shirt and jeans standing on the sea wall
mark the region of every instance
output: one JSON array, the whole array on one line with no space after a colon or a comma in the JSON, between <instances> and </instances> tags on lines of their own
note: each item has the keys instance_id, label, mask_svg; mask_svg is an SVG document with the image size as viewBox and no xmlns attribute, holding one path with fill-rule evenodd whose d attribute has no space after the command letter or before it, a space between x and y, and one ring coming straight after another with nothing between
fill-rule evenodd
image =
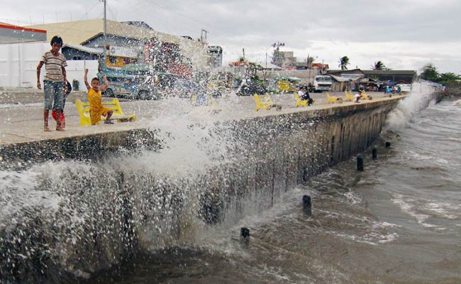
<instances>
[{"instance_id":1,"label":"barefoot youth in striped shirt and jeans standing on the sea wall","mask_svg":"<svg viewBox=\"0 0 461 284\"><path fill-rule=\"evenodd\" d=\"M37 88L42 89L40 85L40 70L45 64L45 78L43 79L43 89L45 91L45 103L43 110L43 131L51 131L48 127L48 116L52 109L56 113L56 130L64 131L61 123L62 100L64 92L67 92L66 58L59 53L62 48L62 38L59 35L52 37L51 50L46 52L37 66Z\"/></svg>"}]
</instances>

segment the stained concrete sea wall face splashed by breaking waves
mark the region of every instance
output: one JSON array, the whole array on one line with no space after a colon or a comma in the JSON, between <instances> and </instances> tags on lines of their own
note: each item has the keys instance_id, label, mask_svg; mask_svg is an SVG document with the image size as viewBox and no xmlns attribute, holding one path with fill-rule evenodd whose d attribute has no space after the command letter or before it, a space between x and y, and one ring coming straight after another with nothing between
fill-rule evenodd
<instances>
[{"instance_id":1,"label":"stained concrete sea wall face splashed by breaking waves","mask_svg":"<svg viewBox=\"0 0 461 284\"><path fill-rule=\"evenodd\" d=\"M372 145L398 100L218 122L202 144L188 149L205 145L210 163L191 165L188 175L150 163L169 147L157 130L5 146L4 165L11 159L61 162L3 179L0 278L89 278L138 249L191 241L201 229L261 212L283 192ZM216 137L223 143L206 147ZM28 187L18 186L21 178L36 176Z\"/></svg>"}]
</instances>

